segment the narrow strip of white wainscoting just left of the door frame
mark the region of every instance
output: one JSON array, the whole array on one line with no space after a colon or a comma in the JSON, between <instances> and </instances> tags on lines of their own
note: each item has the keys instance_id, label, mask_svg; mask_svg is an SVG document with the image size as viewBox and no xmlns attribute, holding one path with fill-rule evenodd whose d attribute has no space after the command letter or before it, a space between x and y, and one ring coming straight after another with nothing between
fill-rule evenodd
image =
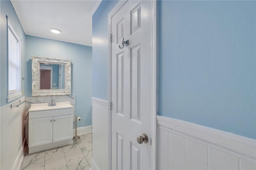
<instances>
[{"instance_id":1,"label":"narrow strip of white wainscoting just left of the door frame","mask_svg":"<svg viewBox=\"0 0 256 170\"><path fill-rule=\"evenodd\" d=\"M108 169L108 101L92 97L92 170Z\"/></svg>"}]
</instances>

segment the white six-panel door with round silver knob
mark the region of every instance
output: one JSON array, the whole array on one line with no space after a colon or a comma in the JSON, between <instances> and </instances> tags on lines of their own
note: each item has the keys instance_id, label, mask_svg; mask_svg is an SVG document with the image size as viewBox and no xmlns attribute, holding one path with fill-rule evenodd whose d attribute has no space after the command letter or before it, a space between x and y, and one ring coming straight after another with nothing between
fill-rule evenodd
<instances>
[{"instance_id":1,"label":"white six-panel door with round silver knob","mask_svg":"<svg viewBox=\"0 0 256 170\"><path fill-rule=\"evenodd\" d=\"M112 170L151 169L150 11L150 1L129 0L111 20Z\"/></svg>"}]
</instances>

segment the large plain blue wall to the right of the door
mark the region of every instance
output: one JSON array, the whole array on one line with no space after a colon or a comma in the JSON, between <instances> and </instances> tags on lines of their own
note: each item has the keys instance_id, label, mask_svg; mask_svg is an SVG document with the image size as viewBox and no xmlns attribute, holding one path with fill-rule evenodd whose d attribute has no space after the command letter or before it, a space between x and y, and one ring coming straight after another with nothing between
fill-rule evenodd
<instances>
[{"instance_id":1,"label":"large plain blue wall to the right of the door","mask_svg":"<svg viewBox=\"0 0 256 170\"><path fill-rule=\"evenodd\" d=\"M256 1L160 1L159 19L159 115L256 138Z\"/></svg>"}]
</instances>

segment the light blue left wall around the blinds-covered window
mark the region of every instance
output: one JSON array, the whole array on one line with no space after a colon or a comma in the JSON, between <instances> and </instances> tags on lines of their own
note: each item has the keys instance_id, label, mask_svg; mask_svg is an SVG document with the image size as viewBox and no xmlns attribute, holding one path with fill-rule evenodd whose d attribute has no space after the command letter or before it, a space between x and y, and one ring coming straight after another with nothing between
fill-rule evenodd
<instances>
[{"instance_id":1,"label":"light blue left wall around the blinds-covered window","mask_svg":"<svg viewBox=\"0 0 256 170\"><path fill-rule=\"evenodd\" d=\"M0 0L0 107L7 104L8 97L8 49L7 49L7 25L6 25L6 15L8 15L8 20L12 24L14 30L22 40L21 42L21 65L25 64L25 48L26 48L26 36L18 20L16 12L9 0ZM24 67L21 67L21 77L24 77ZM24 81L21 84L21 92L24 89ZM24 95L24 94L23 94Z\"/></svg>"}]
</instances>

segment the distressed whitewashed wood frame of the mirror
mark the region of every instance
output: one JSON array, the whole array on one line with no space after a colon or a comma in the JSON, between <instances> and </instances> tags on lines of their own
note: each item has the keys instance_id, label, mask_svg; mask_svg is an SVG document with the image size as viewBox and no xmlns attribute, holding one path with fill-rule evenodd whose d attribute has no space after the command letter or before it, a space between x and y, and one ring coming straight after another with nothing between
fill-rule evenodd
<instances>
[{"instance_id":1,"label":"distressed whitewashed wood frame of the mirror","mask_svg":"<svg viewBox=\"0 0 256 170\"><path fill-rule=\"evenodd\" d=\"M40 89L40 63L64 65L64 89ZM32 56L32 96L70 95L71 60Z\"/></svg>"}]
</instances>

